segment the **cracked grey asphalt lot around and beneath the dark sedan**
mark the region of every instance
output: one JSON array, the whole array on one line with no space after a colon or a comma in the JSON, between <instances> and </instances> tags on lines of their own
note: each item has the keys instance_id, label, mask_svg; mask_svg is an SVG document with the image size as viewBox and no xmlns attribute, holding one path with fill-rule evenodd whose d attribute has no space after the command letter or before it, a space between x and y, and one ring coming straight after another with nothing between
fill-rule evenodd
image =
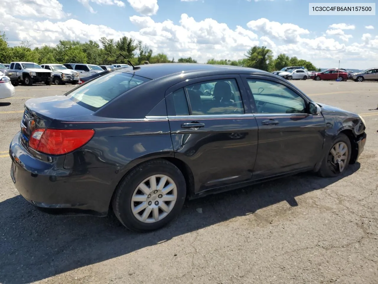
<instances>
[{"instance_id":1,"label":"cracked grey asphalt lot around and beneath the dark sedan","mask_svg":"<svg viewBox=\"0 0 378 284\"><path fill-rule=\"evenodd\" d=\"M378 83L292 82L315 101L378 112ZM22 111L29 97L71 87L19 86L0 109ZM1 157L22 113L0 115ZM378 283L378 115L364 120L366 147L344 176L303 173L187 201L174 222L147 234L113 215L37 211L1 157L0 283Z\"/></svg>"}]
</instances>

